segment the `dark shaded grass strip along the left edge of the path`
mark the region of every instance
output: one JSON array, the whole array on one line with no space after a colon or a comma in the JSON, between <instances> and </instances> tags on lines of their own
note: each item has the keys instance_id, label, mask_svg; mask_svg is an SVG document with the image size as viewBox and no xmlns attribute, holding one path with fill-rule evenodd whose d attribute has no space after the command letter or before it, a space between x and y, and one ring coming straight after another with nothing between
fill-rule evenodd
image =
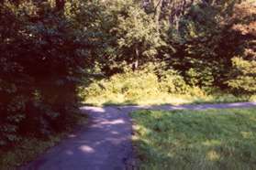
<instances>
[{"instance_id":1,"label":"dark shaded grass strip along the left edge of the path","mask_svg":"<svg viewBox=\"0 0 256 170\"><path fill-rule=\"evenodd\" d=\"M86 120L87 117L84 114L77 114L75 116L75 122L78 125L86 123ZM75 124L71 127L75 127ZM61 133L51 134L47 139L35 137L22 139L11 149L6 151L0 150L0 170L16 170L17 166L35 160L39 154L43 154L47 149L59 143L72 130L72 128L68 128Z\"/></svg>"}]
</instances>

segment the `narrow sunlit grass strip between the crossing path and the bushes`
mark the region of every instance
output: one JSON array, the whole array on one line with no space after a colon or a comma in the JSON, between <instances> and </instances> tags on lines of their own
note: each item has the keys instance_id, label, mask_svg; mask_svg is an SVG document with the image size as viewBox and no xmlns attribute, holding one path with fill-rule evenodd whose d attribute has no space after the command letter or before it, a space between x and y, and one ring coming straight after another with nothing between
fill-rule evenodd
<instances>
[{"instance_id":1,"label":"narrow sunlit grass strip between the crossing path and the bushes","mask_svg":"<svg viewBox=\"0 0 256 170\"><path fill-rule=\"evenodd\" d=\"M161 104L199 104L199 103L228 103L256 101L255 96L234 96L232 94L209 94L204 96L192 96L184 94L159 93L154 95L140 95L137 98L129 98L125 94L108 94L84 98L83 104L104 105L161 105Z\"/></svg>"}]
</instances>

